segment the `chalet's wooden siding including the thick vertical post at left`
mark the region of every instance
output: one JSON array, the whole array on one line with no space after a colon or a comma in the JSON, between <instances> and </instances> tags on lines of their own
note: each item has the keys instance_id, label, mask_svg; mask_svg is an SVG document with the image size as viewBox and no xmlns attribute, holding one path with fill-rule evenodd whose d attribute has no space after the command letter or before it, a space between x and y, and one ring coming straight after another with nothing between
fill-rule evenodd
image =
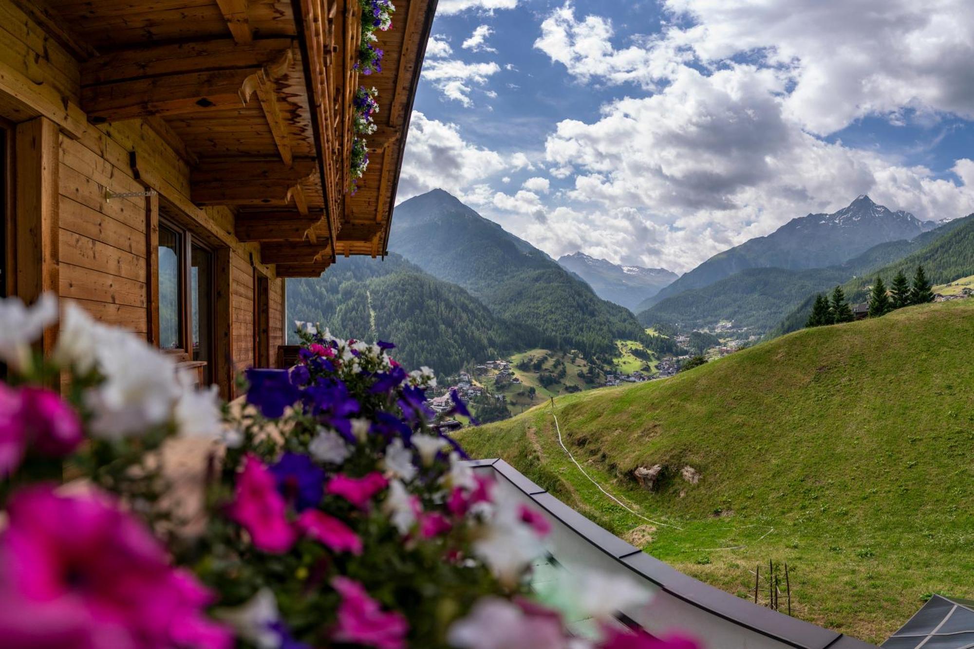
<instances>
[{"instance_id":1,"label":"chalet's wooden siding including the thick vertical post at left","mask_svg":"<svg viewBox=\"0 0 974 649\"><path fill-rule=\"evenodd\" d=\"M152 294L159 201L106 197L156 190L180 210L194 237L218 252L214 258L229 263L228 312L216 318L228 326L216 332L216 354L226 354L235 372L253 362L253 265L270 280L270 345L276 350L283 342L283 281L261 262L259 246L233 236L232 211L191 203L190 165L158 125L90 124L78 109L79 79L79 62L11 0L0 0L0 116L18 124L18 218L11 233L22 242L14 260L23 278L18 292L32 300L56 290L97 320L151 339L158 328ZM221 343L229 349L219 349Z\"/></svg>"}]
</instances>

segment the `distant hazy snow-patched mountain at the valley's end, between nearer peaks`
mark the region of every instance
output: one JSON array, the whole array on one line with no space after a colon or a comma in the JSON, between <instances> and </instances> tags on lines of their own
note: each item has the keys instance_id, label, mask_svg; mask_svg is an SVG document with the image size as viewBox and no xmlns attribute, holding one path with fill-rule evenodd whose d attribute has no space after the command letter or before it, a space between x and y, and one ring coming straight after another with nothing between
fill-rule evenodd
<instances>
[{"instance_id":1,"label":"distant hazy snow-patched mountain at the valley's end, between nearer peaks","mask_svg":"<svg viewBox=\"0 0 974 649\"><path fill-rule=\"evenodd\" d=\"M620 266L584 252L561 256L558 263L584 280L602 299L630 310L636 309L643 300L653 297L660 288L672 284L679 277L665 268Z\"/></svg>"}]
</instances>

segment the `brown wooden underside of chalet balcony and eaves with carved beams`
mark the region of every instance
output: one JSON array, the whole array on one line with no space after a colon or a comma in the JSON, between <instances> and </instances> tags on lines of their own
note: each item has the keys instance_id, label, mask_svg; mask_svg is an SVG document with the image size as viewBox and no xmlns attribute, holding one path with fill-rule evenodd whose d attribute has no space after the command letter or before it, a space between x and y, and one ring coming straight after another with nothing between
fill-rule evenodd
<instances>
[{"instance_id":1,"label":"brown wooden underside of chalet balcony and eaves with carved beams","mask_svg":"<svg viewBox=\"0 0 974 649\"><path fill-rule=\"evenodd\" d=\"M358 0L48 0L80 44L93 122L143 119L187 162L191 200L226 206L279 277L386 253L435 0L397 0L383 70L358 78ZM352 97L379 90L350 193Z\"/></svg>"}]
</instances>

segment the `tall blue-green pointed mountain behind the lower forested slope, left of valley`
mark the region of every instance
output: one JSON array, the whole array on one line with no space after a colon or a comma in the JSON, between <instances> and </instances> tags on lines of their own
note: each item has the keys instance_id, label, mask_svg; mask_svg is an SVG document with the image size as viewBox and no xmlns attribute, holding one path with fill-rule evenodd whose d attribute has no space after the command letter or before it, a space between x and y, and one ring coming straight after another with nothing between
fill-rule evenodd
<instances>
[{"instance_id":1,"label":"tall blue-green pointed mountain behind the lower forested slope, left of valley","mask_svg":"<svg viewBox=\"0 0 974 649\"><path fill-rule=\"evenodd\" d=\"M575 349L589 359L608 359L617 339L659 351L676 348L669 339L648 336L629 310L601 299L542 250L442 190L395 208L390 249L520 325L522 349Z\"/></svg>"}]
</instances>

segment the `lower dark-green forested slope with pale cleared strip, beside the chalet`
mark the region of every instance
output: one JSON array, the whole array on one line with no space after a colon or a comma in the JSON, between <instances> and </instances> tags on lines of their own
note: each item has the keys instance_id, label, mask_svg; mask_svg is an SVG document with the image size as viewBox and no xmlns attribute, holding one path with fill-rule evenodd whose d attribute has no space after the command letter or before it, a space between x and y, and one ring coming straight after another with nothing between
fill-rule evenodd
<instances>
[{"instance_id":1,"label":"lower dark-green forested slope with pale cleared strip, beside the chalet","mask_svg":"<svg viewBox=\"0 0 974 649\"><path fill-rule=\"evenodd\" d=\"M319 322L338 336L393 341L401 363L440 374L518 351L522 338L538 335L397 254L339 258L320 278L288 280L287 318Z\"/></svg>"}]
</instances>

